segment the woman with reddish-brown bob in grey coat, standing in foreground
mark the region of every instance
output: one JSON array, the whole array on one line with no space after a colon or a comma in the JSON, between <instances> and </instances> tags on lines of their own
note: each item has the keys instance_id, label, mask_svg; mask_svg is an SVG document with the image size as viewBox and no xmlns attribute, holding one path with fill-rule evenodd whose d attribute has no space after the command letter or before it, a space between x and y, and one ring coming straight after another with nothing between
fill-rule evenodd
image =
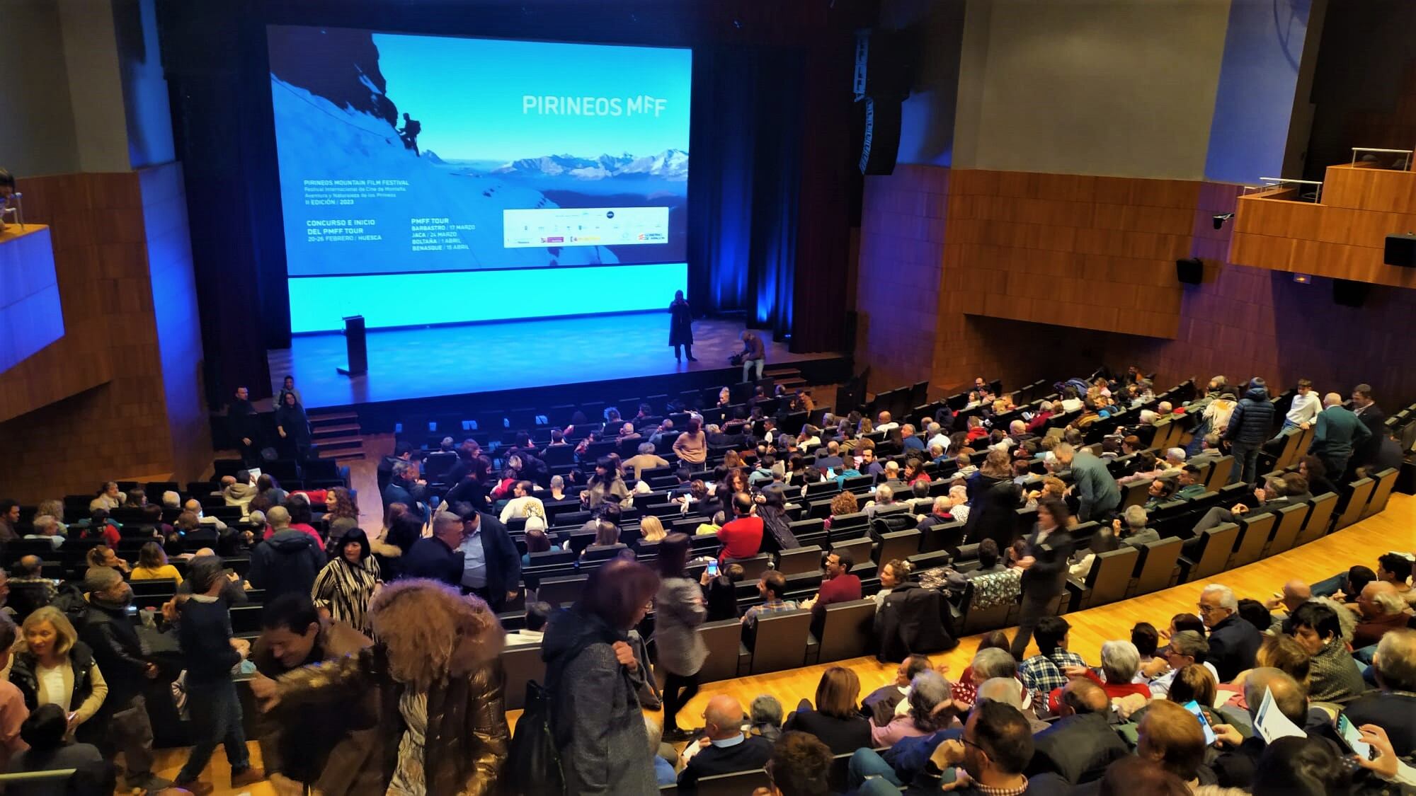
<instances>
[{"instance_id":1,"label":"woman with reddish-brown bob in grey coat, standing in foreground","mask_svg":"<svg viewBox=\"0 0 1416 796\"><path fill-rule=\"evenodd\" d=\"M629 644L658 585L649 567L612 561L590 572L575 608L547 626L541 654L566 793L658 790L639 704L644 671Z\"/></svg>"}]
</instances>

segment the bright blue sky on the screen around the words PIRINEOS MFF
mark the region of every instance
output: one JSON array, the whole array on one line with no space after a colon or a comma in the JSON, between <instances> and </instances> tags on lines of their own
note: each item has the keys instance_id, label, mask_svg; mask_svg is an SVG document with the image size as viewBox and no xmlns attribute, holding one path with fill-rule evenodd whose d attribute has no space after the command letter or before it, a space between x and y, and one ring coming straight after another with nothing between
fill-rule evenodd
<instances>
[{"instance_id":1,"label":"bright blue sky on the screen around the words PIRINEOS MFF","mask_svg":"<svg viewBox=\"0 0 1416 796\"><path fill-rule=\"evenodd\" d=\"M688 150L691 52L650 47L374 34L388 98L422 123L418 146L439 157ZM667 99L636 116L523 113L523 95Z\"/></svg>"}]
</instances>

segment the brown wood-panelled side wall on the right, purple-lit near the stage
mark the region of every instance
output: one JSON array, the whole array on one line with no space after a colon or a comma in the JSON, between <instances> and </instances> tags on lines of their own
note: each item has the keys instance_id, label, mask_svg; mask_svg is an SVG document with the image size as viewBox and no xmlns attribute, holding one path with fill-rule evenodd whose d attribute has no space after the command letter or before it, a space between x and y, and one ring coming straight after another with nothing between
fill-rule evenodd
<instances>
[{"instance_id":1,"label":"brown wood-panelled side wall on the right, purple-lit near the stage","mask_svg":"<svg viewBox=\"0 0 1416 796\"><path fill-rule=\"evenodd\" d=\"M1416 351L1409 344L1410 317L1416 314L1416 290L1374 286L1365 306L1341 307L1332 302L1331 282L1318 279L1311 285L1294 283L1291 275L1226 263L1232 224L1214 229L1212 217L1232 212L1236 186L1192 183L1174 186L1170 181L1134 180L1129 190L1129 205L1175 207L1174 197L1191 197L1185 231L1180 218L1164 221L1167 232L1153 232L1178 238L1165 241L1165 255L1199 256L1205 259L1205 279L1201 285L1174 283L1174 263L1158 258L1147 268L1164 272L1172 282L1175 300L1174 337L1127 334L1119 330L1096 330L1096 317L1124 319L1146 309L1130 300L1129 275L1103 271L1093 261L1110 262L1114 255L1070 252L1065 261L1048 265L1051 273L1017 278L1014 269L1035 268L1017 254L1028 246L1001 242L964 244L954 238L954 217L950 214L939 229L927 215L939 194L953 205L953 191L967 184L969 171L949 173L946 169L902 166L893 176L869 177L865 193L865 215L861 239L860 302L862 334L857 347L857 365L871 365L878 374L872 390L886 390L927 378L933 394L952 392L974 375L1001 378L1017 385L1032 378L1059 378L1082 374L1106 361L1113 367L1136 363L1157 371L1161 384L1174 384L1188 377L1209 378L1216 374L1231 380L1263 375L1277 384L1291 384L1297 378L1311 378L1323 391L1344 395L1359 381L1371 382L1378 399L1388 406L1405 405L1416 398ZM1000 217L1012 214L1010 203L1027 204L1027 193L1048 186L1054 195L1096 195L1096 177L1068 177L1055 174L1021 174L998 178L1000 186L1020 195L994 194L988 212ZM1090 188L1086 186L1090 184ZM1138 193L1146 186L1157 187L1165 198L1147 198ZM927 186L929 188L922 188ZM1035 186L1035 187L1029 187ZM961 194L977 197L978 191ZM1134 201L1133 201L1134 200ZM1110 204L1110 203L1106 203ZM971 217L976 200L964 203L970 229L977 229ZM1021 212L1021 211L1018 211ZM1056 212L1062 212L1058 210ZM1143 211L1137 211L1143 212ZM1095 218L1095 215L1093 215ZM990 232L993 234L993 232ZM1001 235L1001 232L998 232ZM1022 241L1041 239L1018 229ZM943 239L943 244L939 239ZM1160 254L1158 251L1153 254ZM933 276L919 262L920 256L935 256ZM1045 259L1044 262L1051 262ZM1069 271L1070 269L1070 271ZM905 276L895 276L903 273ZM927 286L935 279L936 306L932 319L908 316L901 307L915 313L922 300L913 290L884 289L891 278ZM1058 280L1080 280L1083 302L1073 302L1061 290ZM1041 285L1034 293L1025 288ZM927 288L926 288L927 289ZM1020 295L1014 295L1014 290ZM1093 296L1121 296L1113 305L1097 309ZM990 299L990 296L1001 296ZM980 306L995 305L991 317ZM1066 307L1054 323L1018 320L1037 317L1037 305L1080 305ZM1008 307L1017 307L1017 312ZM1051 310L1048 310L1051 312ZM865 320L868 319L868 322ZM1120 322L1119 322L1120 324ZM922 343L933 336L932 351L920 354ZM925 370L925 360L929 367Z\"/></svg>"}]
</instances>

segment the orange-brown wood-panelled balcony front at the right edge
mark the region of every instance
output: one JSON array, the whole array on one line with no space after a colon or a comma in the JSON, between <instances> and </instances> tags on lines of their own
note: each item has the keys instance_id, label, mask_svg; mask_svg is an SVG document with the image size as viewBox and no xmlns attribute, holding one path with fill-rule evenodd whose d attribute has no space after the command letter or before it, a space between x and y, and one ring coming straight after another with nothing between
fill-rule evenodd
<instances>
[{"instance_id":1,"label":"orange-brown wood-panelled balcony front at the right edge","mask_svg":"<svg viewBox=\"0 0 1416 796\"><path fill-rule=\"evenodd\" d=\"M1416 288L1416 269L1382 262L1386 235L1416 229L1416 173L1330 166L1323 203L1274 188L1239 197L1229 262Z\"/></svg>"}]
</instances>

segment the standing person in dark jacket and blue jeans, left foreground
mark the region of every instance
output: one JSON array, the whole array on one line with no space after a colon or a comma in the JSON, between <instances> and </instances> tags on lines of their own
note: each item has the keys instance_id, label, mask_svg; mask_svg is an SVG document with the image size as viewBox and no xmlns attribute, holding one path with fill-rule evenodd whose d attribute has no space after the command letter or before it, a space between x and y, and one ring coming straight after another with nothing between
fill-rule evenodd
<instances>
[{"instance_id":1,"label":"standing person in dark jacket and blue jeans, left foreground","mask_svg":"<svg viewBox=\"0 0 1416 796\"><path fill-rule=\"evenodd\" d=\"M246 734L241 724L241 698L231 680L231 669L245 660L251 644L231 636L231 615L227 602L221 599L221 589L227 584L221 559L214 555L193 559L187 579L191 582L191 598L181 603L177 633L187 669L187 710L191 712L195 744L173 785L197 796L207 796L215 788L197 778L211 761L217 744L227 748L231 788L261 782L265 772L251 768Z\"/></svg>"}]
</instances>

